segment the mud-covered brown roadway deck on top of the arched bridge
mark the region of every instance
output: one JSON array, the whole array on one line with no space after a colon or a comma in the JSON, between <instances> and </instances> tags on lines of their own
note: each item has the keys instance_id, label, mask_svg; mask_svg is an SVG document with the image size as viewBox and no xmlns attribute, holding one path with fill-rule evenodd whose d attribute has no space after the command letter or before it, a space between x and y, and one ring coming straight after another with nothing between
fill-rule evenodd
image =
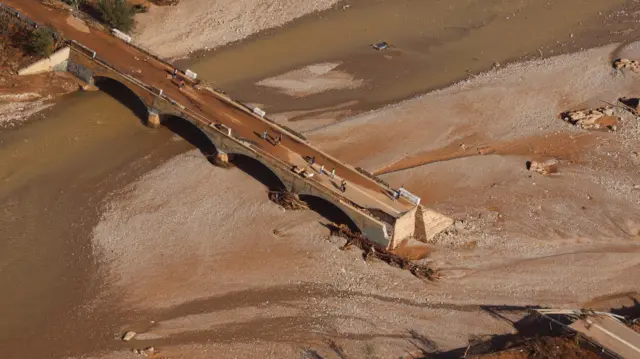
<instances>
[{"instance_id":1,"label":"mud-covered brown roadway deck on top of the arched bridge","mask_svg":"<svg viewBox=\"0 0 640 359\"><path fill-rule=\"evenodd\" d=\"M164 94L188 108L190 112L196 113L199 120L222 123L230 127L236 136L252 140L256 147L292 166L304 167L306 165L304 157L315 156L316 175L310 180L339 193L334 184L339 185L340 180L345 179L348 184L344 196L362 207L379 209L396 218L414 207L404 199L394 201L383 186L293 136L285 133L280 146L273 146L262 140L260 134L263 131L268 131L275 136L279 128L233 106L226 99L209 91L197 90L188 85L178 89L175 83L167 78L167 74L172 71L169 65L147 56L111 34L94 28L90 28L89 32L81 31L67 22L68 13L46 7L37 0L2 0L2 3L38 23L55 28L66 39L75 40L91 48L101 59L118 71L162 89ZM318 173L320 165L324 165L327 171L335 168L336 179L332 180L327 175L320 175Z\"/></svg>"}]
</instances>

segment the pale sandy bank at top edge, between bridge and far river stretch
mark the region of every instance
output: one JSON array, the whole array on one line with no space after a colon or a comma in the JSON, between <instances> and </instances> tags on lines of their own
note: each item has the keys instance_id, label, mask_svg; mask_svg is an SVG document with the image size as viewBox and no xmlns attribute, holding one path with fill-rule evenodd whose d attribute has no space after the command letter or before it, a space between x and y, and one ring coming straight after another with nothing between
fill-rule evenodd
<instances>
[{"instance_id":1,"label":"pale sandy bank at top edge, between bridge and far river stretch","mask_svg":"<svg viewBox=\"0 0 640 359\"><path fill-rule=\"evenodd\" d=\"M300 16L329 9L338 0L181 0L150 6L136 17L134 39L160 56L175 58L212 49Z\"/></svg>"}]
</instances>

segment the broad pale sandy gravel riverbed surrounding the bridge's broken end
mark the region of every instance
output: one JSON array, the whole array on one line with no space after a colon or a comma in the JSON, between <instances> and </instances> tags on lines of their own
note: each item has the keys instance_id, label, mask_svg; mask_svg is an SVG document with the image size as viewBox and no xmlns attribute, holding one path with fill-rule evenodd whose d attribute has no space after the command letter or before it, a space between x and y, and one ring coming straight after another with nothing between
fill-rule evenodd
<instances>
[{"instance_id":1,"label":"broad pale sandy gravel riverbed surrounding the bridge's broken end","mask_svg":"<svg viewBox=\"0 0 640 359\"><path fill-rule=\"evenodd\" d=\"M341 251L317 214L282 211L197 153L150 172L94 230L105 295L137 313L122 331L142 333L98 357L149 345L172 358L399 357L510 332L490 314L502 306L607 308L637 294L637 120L620 112L619 131L588 133L556 118L638 93L636 75L611 70L614 50L509 66L313 133L356 165L395 164L386 180L459 220L425 260L435 283ZM526 170L549 157L559 173Z\"/></svg>"}]
</instances>

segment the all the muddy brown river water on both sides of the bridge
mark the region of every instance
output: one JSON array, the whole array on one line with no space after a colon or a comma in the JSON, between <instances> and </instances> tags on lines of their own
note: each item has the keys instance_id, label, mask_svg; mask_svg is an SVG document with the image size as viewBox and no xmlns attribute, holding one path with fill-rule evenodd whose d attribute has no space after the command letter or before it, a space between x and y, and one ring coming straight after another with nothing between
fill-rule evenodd
<instances>
[{"instance_id":1,"label":"all the muddy brown river water on both sides of the bridge","mask_svg":"<svg viewBox=\"0 0 640 359\"><path fill-rule=\"evenodd\" d=\"M607 15L629 6L619 0L347 3L348 9L307 16L189 65L243 99L273 103L270 110L355 99L359 107L354 109L362 111L445 85L496 61L538 49L548 55L632 38L637 31L623 31L632 12L624 21ZM557 43L568 39L573 40L566 46ZM378 40L394 49L367 47ZM262 78L324 61L342 61L367 85L296 101L254 86ZM92 228L109 193L192 148L167 129L146 128L135 111L100 92L68 96L44 115L0 131L3 358L57 358L121 345L114 335L125 316L132 320L131 313L119 307L118 298L96 301L104 291L91 252Z\"/></svg>"}]
</instances>

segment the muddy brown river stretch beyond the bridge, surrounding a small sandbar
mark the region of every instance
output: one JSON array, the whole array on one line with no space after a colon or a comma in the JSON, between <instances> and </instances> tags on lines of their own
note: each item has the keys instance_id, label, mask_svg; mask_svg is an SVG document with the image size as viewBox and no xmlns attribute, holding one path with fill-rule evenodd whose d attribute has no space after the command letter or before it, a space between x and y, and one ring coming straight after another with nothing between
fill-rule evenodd
<instances>
[{"instance_id":1,"label":"muddy brown river stretch beyond the bridge, surrounding a small sandbar","mask_svg":"<svg viewBox=\"0 0 640 359\"><path fill-rule=\"evenodd\" d=\"M268 112L352 102L347 108L353 115L446 86L494 63L635 38L640 35L636 7L625 0L352 0L179 63L242 100L265 104ZM383 40L390 50L369 47ZM319 62L339 62L339 70L365 85L295 101L255 85Z\"/></svg>"}]
</instances>

